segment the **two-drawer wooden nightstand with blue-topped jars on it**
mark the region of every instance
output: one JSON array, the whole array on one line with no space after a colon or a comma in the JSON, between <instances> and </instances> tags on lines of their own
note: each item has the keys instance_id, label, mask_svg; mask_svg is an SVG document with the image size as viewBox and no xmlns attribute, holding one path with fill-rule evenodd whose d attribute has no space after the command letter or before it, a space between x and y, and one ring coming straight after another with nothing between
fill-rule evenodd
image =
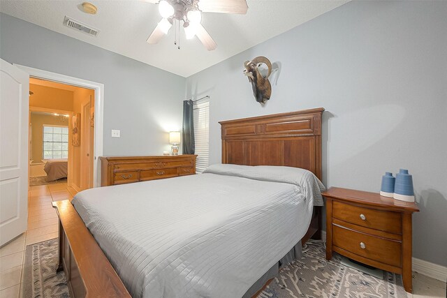
<instances>
[{"instance_id":1,"label":"two-drawer wooden nightstand with blue-topped jars on it","mask_svg":"<svg viewBox=\"0 0 447 298\"><path fill-rule=\"evenodd\" d=\"M332 251L358 262L402 274L406 292L411 285L411 215L415 202L379 193L329 188L326 198L326 259Z\"/></svg>"}]
</instances>

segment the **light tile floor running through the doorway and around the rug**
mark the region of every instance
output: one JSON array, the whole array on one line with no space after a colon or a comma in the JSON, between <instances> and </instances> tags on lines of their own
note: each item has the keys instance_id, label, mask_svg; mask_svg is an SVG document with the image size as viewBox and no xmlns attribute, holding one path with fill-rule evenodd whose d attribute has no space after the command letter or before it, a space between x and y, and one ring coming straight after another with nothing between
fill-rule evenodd
<instances>
[{"instance_id":1,"label":"light tile floor running through the doorway and around the rug","mask_svg":"<svg viewBox=\"0 0 447 298\"><path fill-rule=\"evenodd\" d=\"M71 200L76 191L66 184L31 186L28 193L28 230L0 248L0 298L21 297L24 249L27 245L58 236L57 214L52 201ZM414 273L413 295L446 297L446 283Z\"/></svg>"}]
</instances>

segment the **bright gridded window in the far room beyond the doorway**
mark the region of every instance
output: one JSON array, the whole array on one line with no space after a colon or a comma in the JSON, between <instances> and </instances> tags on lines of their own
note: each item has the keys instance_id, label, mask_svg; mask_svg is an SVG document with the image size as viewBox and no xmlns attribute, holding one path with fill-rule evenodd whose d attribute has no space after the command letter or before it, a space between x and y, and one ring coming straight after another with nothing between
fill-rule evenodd
<instances>
[{"instance_id":1,"label":"bright gridded window in the far room beyond the doorway","mask_svg":"<svg viewBox=\"0 0 447 298\"><path fill-rule=\"evenodd\" d=\"M68 158L68 126L43 126L43 159Z\"/></svg>"}]
</instances>

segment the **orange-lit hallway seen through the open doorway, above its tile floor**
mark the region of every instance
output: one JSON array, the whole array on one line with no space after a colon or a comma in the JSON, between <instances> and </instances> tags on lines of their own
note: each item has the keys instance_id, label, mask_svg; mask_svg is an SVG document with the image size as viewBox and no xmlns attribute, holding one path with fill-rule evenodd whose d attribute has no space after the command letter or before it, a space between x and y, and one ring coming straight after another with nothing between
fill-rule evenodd
<instances>
[{"instance_id":1,"label":"orange-lit hallway seen through the open doorway, above its tile floor","mask_svg":"<svg viewBox=\"0 0 447 298\"><path fill-rule=\"evenodd\" d=\"M29 185L93 187L95 91L36 77L29 91Z\"/></svg>"}]
</instances>

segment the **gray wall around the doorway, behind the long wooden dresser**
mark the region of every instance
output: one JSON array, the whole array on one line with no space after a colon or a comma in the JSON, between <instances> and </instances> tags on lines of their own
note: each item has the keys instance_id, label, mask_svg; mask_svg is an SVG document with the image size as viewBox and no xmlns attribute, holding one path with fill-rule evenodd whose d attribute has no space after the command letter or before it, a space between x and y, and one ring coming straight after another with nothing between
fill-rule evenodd
<instances>
[{"instance_id":1,"label":"gray wall around the doorway, behind the long wooden dresser","mask_svg":"<svg viewBox=\"0 0 447 298\"><path fill-rule=\"evenodd\" d=\"M3 13L0 38L3 60L104 84L104 155L163 154L182 127L184 77Z\"/></svg>"}]
</instances>

